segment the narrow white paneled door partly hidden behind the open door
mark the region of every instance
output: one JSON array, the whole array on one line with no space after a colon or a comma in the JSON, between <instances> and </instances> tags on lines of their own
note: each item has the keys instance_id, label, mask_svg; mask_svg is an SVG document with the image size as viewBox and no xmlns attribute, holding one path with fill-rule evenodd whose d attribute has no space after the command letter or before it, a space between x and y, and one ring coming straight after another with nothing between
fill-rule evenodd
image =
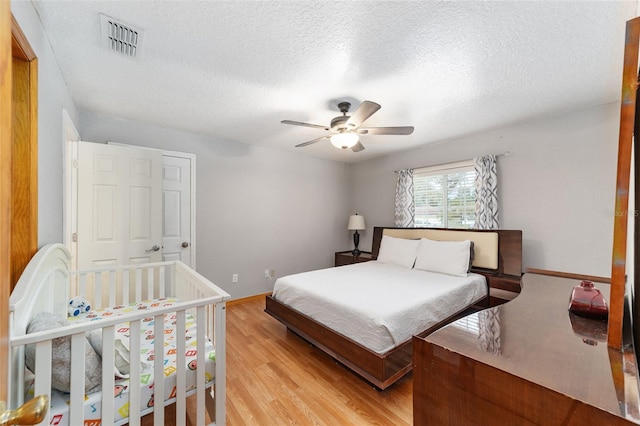
<instances>
[{"instance_id":1,"label":"narrow white paneled door partly hidden behind the open door","mask_svg":"<svg viewBox=\"0 0 640 426\"><path fill-rule=\"evenodd\" d=\"M181 260L192 264L192 160L189 157L164 155L162 157L163 234L162 257L164 260Z\"/></svg>"}]
</instances>

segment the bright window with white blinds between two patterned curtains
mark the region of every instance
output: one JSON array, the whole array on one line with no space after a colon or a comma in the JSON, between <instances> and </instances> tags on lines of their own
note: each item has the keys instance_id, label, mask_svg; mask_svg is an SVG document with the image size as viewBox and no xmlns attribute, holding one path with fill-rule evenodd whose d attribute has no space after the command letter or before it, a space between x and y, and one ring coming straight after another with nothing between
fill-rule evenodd
<instances>
[{"instance_id":1,"label":"bright window with white blinds between two patterned curtains","mask_svg":"<svg viewBox=\"0 0 640 426\"><path fill-rule=\"evenodd\" d=\"M475 176L472 161L414 170L415 226L473 228Z\"/></svg>"}]
</instances>

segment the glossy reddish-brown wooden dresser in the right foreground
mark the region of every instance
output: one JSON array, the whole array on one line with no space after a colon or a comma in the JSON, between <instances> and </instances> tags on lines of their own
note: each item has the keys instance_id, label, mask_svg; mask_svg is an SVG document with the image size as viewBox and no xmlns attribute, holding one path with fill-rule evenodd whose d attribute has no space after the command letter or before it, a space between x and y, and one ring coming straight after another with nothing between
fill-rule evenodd
<instances>
[{"instance_id":1,"label":"glossy reddish-brown wooden dresser in the right foreground","mask_svg":"<svg viewBox=\"0 0 640 426\"><path fill-rule=\"evenodd\" d=\"M414 424L640 424L635 356L607 347L604 323L570 317L577 284L525 274L512 301L414 337Z\"/></svg>"}]
</instances>

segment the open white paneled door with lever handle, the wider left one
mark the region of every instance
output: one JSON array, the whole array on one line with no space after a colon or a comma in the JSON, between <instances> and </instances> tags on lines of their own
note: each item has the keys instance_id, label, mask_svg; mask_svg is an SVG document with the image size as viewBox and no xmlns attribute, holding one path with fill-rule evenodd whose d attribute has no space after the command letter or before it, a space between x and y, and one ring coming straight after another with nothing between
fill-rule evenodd
<instances>
[{"instance_id":1,"label":"open white paneled door with lever handle, the wider left one","mask_svg":"<svg viewBox=\"0 0 640 426\"><path fill-rule=\"evenodd\" d=\"M78 268L162 259L162 153L78 143Z\"/></svg>"}]
</instances>

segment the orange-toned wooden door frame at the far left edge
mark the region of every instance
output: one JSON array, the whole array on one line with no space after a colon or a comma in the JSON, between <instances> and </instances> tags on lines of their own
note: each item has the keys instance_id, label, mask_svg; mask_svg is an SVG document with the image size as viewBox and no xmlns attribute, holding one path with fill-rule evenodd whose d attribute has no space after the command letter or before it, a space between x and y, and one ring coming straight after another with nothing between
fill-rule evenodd
<instances>
[{"instance_id":1,"label":"orange-toned wooden door frame at the far left edge","mask_svg":"<svg viewBox=\"0 0 640 426\"><path fill-rule=\"evenodd\" d=\"M38 58L11 3L0 1L0 401L8 396L9 295L37 249Z\"/></svg>"}]
</instances>

